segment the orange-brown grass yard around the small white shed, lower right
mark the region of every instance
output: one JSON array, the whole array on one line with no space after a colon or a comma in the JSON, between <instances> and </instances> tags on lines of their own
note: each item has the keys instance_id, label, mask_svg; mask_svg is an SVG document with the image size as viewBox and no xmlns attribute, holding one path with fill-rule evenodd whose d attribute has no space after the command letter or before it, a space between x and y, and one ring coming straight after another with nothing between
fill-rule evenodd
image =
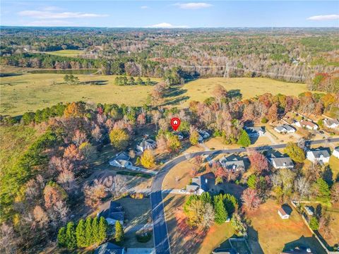
<instances>
[{"instance_id":1,"label":"orange-brown grass yard around the small white shed, lower right","mask_svg":"<svg viewBox=\"0 0 339 254\"><path fill-rule=\"evenodd\" d=\"M280 207L274 200L268 200L258 210L248 214L251 220L249 243L252 248L253 238L258 238L263 253L280 253L286 246L293 248L297 243L309 246L315 253L322 253L319 243L312 237L297 211L292 211L290 219L281 219L278 214Z\"/></svg>"}]
</instances>

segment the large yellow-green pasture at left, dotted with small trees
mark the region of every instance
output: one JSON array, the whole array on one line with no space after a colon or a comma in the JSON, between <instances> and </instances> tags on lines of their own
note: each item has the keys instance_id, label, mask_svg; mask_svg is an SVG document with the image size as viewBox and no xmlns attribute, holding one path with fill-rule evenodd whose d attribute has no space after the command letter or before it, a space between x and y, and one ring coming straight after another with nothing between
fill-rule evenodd
<instances>
[{"instance_id":1,"label":"large yellow-green pasture at left, dotted with small trees","mask_svg":"<svg viewBox=\"0 0 339 254\"><path fill-rule=\"evenodd\" d=\"M67 85L64 83L64 74L54 73L26 73L1 78L0 114L16 116L59 102L80 100L141 106L146 103L148 94L153 88L146 85L115 85L115 75L76 76L85 85ZM97 85L90 85L91 82L96 82Z\"/></svg>"}]
</instances>

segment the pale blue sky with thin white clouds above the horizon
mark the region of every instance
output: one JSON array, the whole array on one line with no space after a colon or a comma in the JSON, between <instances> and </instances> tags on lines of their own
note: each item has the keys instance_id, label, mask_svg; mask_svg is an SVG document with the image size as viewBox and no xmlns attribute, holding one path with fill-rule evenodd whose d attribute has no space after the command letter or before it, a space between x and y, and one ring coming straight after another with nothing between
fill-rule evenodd
<instances>
[{"instance_id":1,"label":"pale blue sky with thin white clouds above the horizon","mask_svg":"<svg viewBox=\"0 0 339 254\"><path fill-rule=\"evenodd\" d=\"M339 1L1 0L0 25L102 28L339 27Z\"/></svg>"}]
</instances>

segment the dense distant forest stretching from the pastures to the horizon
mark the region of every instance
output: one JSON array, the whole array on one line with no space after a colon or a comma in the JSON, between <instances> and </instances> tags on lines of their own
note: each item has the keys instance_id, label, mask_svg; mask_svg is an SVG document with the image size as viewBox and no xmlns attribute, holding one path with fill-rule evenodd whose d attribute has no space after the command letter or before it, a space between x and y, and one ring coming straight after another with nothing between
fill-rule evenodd
<instances>
[{"instance_id":1,"label":"dense distant forest stretching from the pastures to the horizon","mask_svg":"<svg viewBox=\"0 0 339 254\"><path fill-rule=\"evenodd\" d=\"M39 33L39 36L37 35ZM338 71L334 29L6 28L1 63L32 68L101 68L102 73L162 78L180 66L189 78L264 76L309 82ZM66 57L47 54L81 49ZM336 77L336 75L335 75ZM336 85L333 85L335 83ZM338 80L321 86L335 92Z\"/></svg>"}]
</instances>

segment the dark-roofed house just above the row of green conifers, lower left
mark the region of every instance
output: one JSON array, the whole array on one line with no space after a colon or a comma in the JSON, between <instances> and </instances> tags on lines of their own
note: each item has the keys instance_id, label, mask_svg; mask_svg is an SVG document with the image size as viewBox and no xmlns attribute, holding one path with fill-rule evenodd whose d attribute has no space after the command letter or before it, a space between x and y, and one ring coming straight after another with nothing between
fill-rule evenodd
<instances>
[{"instance_id":1,"label":"dark-roofed house just above the row of green conifers, lower left","mask_svg":"<svg viewBox=\"0 0 339 254\"><path fill-rule=\"evenodd\" d=\"M117 221L123 225L124 215L124 209L119 202L109 201L102 205L97 217L104 217L109 225L114 225Z\"/></svg>"}]
</instances>

